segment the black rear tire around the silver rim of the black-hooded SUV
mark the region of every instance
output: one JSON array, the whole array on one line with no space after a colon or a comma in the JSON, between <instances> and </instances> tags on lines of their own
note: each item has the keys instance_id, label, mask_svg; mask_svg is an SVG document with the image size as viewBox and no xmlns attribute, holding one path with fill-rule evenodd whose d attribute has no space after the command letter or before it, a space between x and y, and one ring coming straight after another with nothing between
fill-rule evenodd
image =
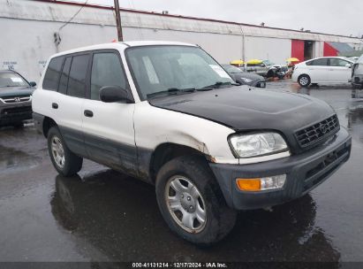
<instances>
[{"instance_id":1,"label":"black rear tire around the silver rim of the black-hooded SUV","mask_svg":"<svg viewBox=\"0 0 363 269\"><path fill-rule=\"evenodd\" d=\"M52 152L52 142L53 139L59 139L61 142L63 151L64 151L64 162L63 165L57 164L55 159L55 155ZM52 164L56 168L57 172L63 175L64 177L70 177L79 172L82 168L83 158L75 155L71 150L68 149L67 145L64 142L63 136L60 134L57 127L51 127L48 132L48 151L49 157L52 161Z\"/></svg>"}]
</instances>

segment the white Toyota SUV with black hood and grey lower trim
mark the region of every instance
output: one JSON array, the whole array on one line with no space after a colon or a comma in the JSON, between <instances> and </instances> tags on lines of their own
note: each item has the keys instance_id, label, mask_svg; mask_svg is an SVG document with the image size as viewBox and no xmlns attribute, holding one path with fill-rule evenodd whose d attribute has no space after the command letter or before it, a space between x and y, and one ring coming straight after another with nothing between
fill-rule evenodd
<instances>
[{"instance_id":1,"label":"white Toyota SUV with black hood and grey lower trim","mask_svg":"<svg viewBox=\"0 0 363 269\"><path fill-rule=\"evenodd\" d=\"M163 218L189 242L218 242L237 210L304 196L350 157L328 104L236 84L196 45L109 43L48 63L33 110L57 172L87 158L155 184Z\"/></svg>"}]
</instances>

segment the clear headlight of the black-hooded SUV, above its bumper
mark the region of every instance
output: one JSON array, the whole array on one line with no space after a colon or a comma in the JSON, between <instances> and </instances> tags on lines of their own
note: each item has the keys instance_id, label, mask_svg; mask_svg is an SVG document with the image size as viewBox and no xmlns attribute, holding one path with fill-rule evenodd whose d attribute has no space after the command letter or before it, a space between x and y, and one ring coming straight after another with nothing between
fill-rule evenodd
<instances>
[{"instance_id":1,"label":"clear headlight of the black-hooded SUV, above its bumper","mask_svg":"<svg viewBox=\"0 0 363 269\"><path fill-rule=\"evenodd\" d=\"M288 150L284 138L276 133L232 135L230 142L239 158L252 158Z\"/></svg>"}]
</instances>

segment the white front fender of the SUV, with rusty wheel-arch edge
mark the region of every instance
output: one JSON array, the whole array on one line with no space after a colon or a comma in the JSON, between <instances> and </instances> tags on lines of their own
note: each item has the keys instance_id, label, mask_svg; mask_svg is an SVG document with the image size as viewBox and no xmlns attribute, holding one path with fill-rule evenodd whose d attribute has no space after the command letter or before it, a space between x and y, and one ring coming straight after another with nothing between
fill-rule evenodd
<instances>
[{"instance_id":1,"label":"white front fender of the SUV, with rusty wheel-arch edge","mask_svg":"<svg viewBox=\"0 0 363 269\"><path fill-rule=\"evenodd\" d=\"M147 117L152 115L152 117ZM216 159L217 163L238 164L227 141L235 133L208 119L157 108L147 101L135 104L135 140L140 148L155 150L165 142L177 143Z\"/></svg>"}]
</instances>

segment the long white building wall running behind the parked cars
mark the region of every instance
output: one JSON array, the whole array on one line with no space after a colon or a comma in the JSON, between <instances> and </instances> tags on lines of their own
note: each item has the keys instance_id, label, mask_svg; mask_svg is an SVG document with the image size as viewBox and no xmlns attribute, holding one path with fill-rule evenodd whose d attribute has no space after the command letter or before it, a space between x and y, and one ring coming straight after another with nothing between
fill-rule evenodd
<instances>
[{"instance_id":1,"label":"long white building wall running behind the parked cars","mask_svg":"<svg viewBox=\"0 0 363 269\"><path fill-rule=\"evenodd\" d=\"M28 0L0 0L0 68L13 67L37 81L47 58L57 51L111 42L117 38L114 13L109 8ZM238 58L268 58L284 63L291 56L291 39L346 42L359 49L358 39L221 21L121 12L125 40L172 40L197 43L221 63ZM62 41L56 46L54 33ZM319 47L319 46L318 46ZM320 47L319 47L320 48ZM314 56L322 56L322 46ZM321 55L320 55L321 54Z\"/></svg>"}]
</instances>

